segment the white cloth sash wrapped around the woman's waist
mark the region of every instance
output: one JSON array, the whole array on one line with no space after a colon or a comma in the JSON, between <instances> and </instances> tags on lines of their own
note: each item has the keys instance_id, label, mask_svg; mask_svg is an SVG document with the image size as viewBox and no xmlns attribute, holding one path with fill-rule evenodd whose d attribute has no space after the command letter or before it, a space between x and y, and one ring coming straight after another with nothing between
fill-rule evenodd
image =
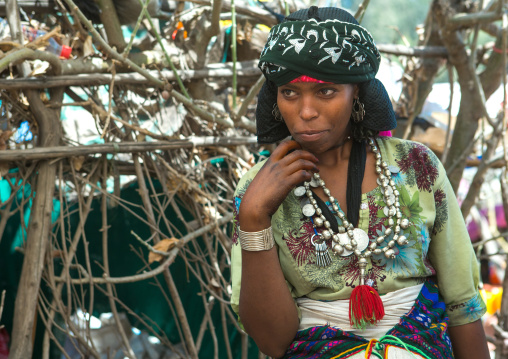
<instances>
[{"instance_id":1,"label":"white cloth sash wrapped around the woman's waist","mask_svg":"<svg viewBox=\"0 0 508 359\"><path fill-rule=\"evenodd\" d=\"M296 304L302 313L298 330L329 325L360 335L368 340L380 339L399 323L400 317L411 310L422 287L423 284L419 284L382 295L385 316L376 326L363 330L351 328L349 324L349 299L323 302L305 297L297 298Z\"/></svg>"}]
</instances>

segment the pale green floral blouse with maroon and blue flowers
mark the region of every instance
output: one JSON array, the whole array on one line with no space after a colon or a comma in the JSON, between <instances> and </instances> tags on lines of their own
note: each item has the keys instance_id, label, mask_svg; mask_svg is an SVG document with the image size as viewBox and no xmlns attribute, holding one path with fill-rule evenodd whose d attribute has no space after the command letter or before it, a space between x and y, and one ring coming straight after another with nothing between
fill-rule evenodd
<instances>
[{"instance_id":1,"label":"pale green floral blouse with maroon and blue flowers","mask_svg":"<svg viewBox=\"0 0 508 359\"><path fill-rule=\"evenodd\" d=\"M368 258L366 282L373 283L382 295L433 277L446 303L451 326L478 320L486 310L478 291L478 263L441 162L419 143L391 137L376 140L400 192L402 218L410 222L407 229L401 230L409 243L395 245L397 256L394 259L387 259L383 254ZM238 210L245 190L263 164L264 161L245 174L234 198L231 305L237 314L242 265ZM369 234L371 241L388 226L384 206L379 187L362 194L358 227ZM300 200L292 192L273 215L272 228L282 271L293 298L331 301L350 297L360 274L356 256L334 256L329 249L332 264L318 267L310 242L314 233L312 223L303 216ZM331 242L328 244L330 248Z\"/></svg>"}]
</instances>

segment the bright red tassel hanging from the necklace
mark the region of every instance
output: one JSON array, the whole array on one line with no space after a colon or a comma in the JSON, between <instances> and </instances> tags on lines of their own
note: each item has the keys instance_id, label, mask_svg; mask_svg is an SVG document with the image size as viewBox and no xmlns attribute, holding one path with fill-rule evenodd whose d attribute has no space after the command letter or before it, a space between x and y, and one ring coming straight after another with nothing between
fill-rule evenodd
<instances>
[{"instance_id":1,"label":"bright red tassel hanging from the necklace","mask_svg":"<svg viewBox=\"0 0 508 359\"><path fill-rule=\"evenodd\" d=\"M383 301L378 292L369 285L359 285L349 299L349 323L351 327L365 329L385 316Z\"/></svg>"}]
</instances>

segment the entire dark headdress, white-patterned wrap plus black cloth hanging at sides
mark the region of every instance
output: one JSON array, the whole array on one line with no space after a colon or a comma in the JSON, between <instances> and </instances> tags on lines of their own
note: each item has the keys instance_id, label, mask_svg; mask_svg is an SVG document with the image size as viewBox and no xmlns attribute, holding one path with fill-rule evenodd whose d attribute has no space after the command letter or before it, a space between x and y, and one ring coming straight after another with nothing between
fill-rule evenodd
<instances>
[{"instance_id":1,"label":"entire dark headdress, white-patterned wrap plus black cloth hanging at sides","mask_svg":"<svg viewBox=\"0 0 508 359\"><path fill-rule=\"evenodd\" d=\"M259 143L273 143L289 136L284 122L273 117L277 87L301 75L317 80L358 84L365 106L362 125L374 131L396 127L390 98L375 79L381 57L372 35L340 8L299 10L272 28L259 59L266 77L256 110Z\"/></svg>"}]
</instances>

